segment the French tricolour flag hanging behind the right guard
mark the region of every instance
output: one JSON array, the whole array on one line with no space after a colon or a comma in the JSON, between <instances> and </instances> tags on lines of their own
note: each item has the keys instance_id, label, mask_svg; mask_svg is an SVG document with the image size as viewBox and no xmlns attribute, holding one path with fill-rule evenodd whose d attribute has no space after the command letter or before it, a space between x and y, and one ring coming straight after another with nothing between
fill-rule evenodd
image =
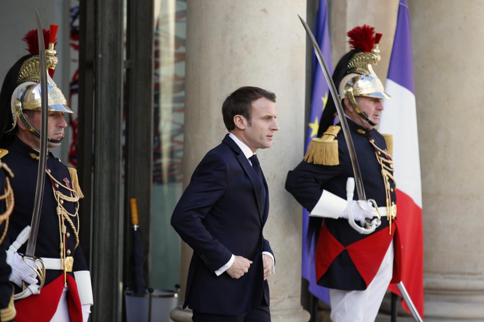
<instances>
[{"instance_id":1,"label":"French tricolour flag hanging behind the right guard","mask_svg":"<svg viewBox=\"0 0 484 322\"><path fill-rule=\"evenodd\" d=\"M402 282L423 316L422 193L413 84L412 39L406 0L400 0L379 131L393 134L397 221L403 245ZM395 284L389 290L401 295ZM403 307L408 311L405 303Z\"/></svg>"}]
</instances>

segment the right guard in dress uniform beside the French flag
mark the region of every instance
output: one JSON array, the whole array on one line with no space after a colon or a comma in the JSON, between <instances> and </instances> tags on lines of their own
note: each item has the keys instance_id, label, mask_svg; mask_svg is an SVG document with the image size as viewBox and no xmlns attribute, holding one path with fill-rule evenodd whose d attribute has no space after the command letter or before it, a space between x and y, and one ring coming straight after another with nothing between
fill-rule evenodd
<instances>
[{"instance_id":1,"label":"right guard in dress uniform beside the French flag","mask_svg":"<svg viewBox=\"0 0 484 322\"><path fill-rule=\"evenodd\" d=\"M356 194L355 200L346 200L346 182L354 174L332 99L323 111L318 137L311 141L304 160L289 171L286 189L310 212L308 240L316 238L316 280L330 288L331 319L367 322L375 320L389 283L400 281L401 255L391 136L375 128L383 110L381 100L390 98L372 67L380 60L381 34L364 25L348 36L352 50L338 62L333 82L366 197L378 206L380 225L364 234L348 223L351 212L358 228L365 227L375 213L368 211L368 201L358 202Z\"/></svg>"}]
</instances>

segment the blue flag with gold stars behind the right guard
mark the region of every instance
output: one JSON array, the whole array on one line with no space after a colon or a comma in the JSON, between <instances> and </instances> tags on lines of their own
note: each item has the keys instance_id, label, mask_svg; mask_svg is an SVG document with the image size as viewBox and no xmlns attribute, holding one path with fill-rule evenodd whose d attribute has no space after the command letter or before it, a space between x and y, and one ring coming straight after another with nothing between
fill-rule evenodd
<instances>
[{"instance_id":1,"label":"blue flag with gold stars behind the right guard","mask_svg":"<svg viewBox=\"0 0 484 322\"><path fill-rule=\"evenodd\" d=\"M331 65L331 45L329 42L329 29L328 29L328 6L326 0L319 1L319 9L316 15L316 22L314 24L314 37L318 42L321 52L328 68L333 70ZM312 66L312 98L311 98L311 112L308 120L308 135L306 138L305 153L308 149L309 143L313 137L318 134L319 122L321 120L321 114L323 108L328 101L329 87L324 77L323 69L321 69L316 54L313 51L313 66ZM314 264L314 242L311 249L308 249L306 243L306 235L309 225L309 212L304 208L302 213L302 267L301 275L309 282L309 291L329 304L329 290L325 287L319 286L316 281L316 267Z\"/></svg>"}]
</instances>

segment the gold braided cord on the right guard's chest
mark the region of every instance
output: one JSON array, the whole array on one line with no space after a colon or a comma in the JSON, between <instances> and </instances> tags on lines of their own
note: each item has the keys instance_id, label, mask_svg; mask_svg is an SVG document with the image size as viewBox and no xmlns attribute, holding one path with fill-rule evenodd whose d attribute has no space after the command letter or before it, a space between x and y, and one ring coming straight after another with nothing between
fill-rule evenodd
<instances>
[{"instance_id":1,"label":"gold braided cord on the right guard's chest","mask_svg":"<svg viewBox=\"0 0 484 322\"><path fill-rule=\"evenodd\" d=\"M393 158L386 150L382 150L375 144L374 139L369 140L375 148L375 155L377 156L378 163L382 167L382 177L385 183L385 200L387 207L387 219L390 226L390 234L392 233L392 219L397 216L397 205L395 201L392 201L393 188L390 187L390 180L393 181L393 185L396 187L395 178L392 176L393 172Z\"/></svg>"}]
</instances>

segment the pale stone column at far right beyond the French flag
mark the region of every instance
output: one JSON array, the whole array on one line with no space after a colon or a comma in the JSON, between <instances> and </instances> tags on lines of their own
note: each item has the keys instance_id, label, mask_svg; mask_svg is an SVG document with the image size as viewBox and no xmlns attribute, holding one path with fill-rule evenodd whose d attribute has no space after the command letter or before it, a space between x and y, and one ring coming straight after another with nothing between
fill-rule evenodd
<instances>
[{"instance_id":1,"label":"pale stone column at far right beyond the French flag","mask_svg":"<svg viewBox=\"0 0 484 322\"><path fill-rule=\"evenodd\" d=\"M424 233L426 321L484 317L482 10L409 0Z\"/></svg>"}]
</instances>

